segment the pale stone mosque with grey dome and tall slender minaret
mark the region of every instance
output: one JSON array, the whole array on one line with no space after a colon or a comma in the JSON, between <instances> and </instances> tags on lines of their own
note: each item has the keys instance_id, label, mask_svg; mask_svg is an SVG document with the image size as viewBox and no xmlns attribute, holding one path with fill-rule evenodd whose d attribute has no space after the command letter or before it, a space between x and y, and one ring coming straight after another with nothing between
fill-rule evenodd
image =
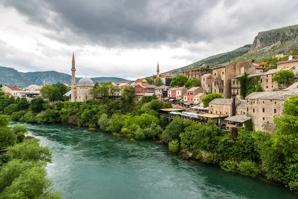
<instances>
[{"instance_id":1,"label":"pale stone mosque with grey dome and tall slender minaret","mask_svg":"<svg viewBox=\"0 0 298 199\"><path fill-rule=\"evenodd\" d=\"M94 96L89 94L89 91L93 89L94 83L89 78L82 78L75 84L75 61L73 53L73 64L72 64L72 90L70 92L71 101L86 101L93 99Z\"/></svg>"}]
</instances>

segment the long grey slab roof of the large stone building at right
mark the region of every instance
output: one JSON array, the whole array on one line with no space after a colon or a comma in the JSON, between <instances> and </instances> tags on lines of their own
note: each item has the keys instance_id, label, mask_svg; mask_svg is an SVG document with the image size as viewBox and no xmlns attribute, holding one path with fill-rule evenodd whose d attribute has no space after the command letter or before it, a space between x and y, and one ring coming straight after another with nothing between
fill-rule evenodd
<instances>
[{"instance_id":1,"label":"long grey slab roof of the large stone building at right","mask_svg":"<svg viewBox=\"0 0 298 199\"><path fill-rule=\"evenodd\" d=\"M245 97L245 99L261 99L261 100L284 100L284 96L296 96L298 89L289 91L267 91L267 92L254 92Z\"/></svg>"}]
</instances>

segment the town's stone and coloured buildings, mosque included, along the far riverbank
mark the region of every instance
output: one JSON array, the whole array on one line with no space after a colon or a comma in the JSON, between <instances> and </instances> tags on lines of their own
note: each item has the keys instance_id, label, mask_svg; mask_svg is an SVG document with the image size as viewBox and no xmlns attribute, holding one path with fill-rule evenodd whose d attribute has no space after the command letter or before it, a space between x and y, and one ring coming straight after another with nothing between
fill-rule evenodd
<instances>
[{"instance_id":1,"label":"town's stone and coloured buildings, mosque included, along the far riverbank","mask_svg":"<svg viewBox=\"0 0 298 199\"><path fill-rule=\"evenodd\" d=\"M95 83L89 78L81 78L75 83L75 61L72 60L72 85L71 91L65 94L70 101L86 101L89 99L114 99L120 100L123 88L131 86L134 89L136 101L142 101L143 97L168 101L181 112L180 117L191 118L197 122L205 123L208 120L216 122L223 130L245 127L247 121L251 121L254 130L271 132L275 130L274 116L281 116L283 103L291 96L298 95L298 56L289 56L277 63L277 69L268 70L269 63L227 62L214 67L202 67L187 69L183 75L189 80L201 80L201 86L170 87L174 75L159 75L159 64L156 68L156 78L142 78L133 82L122 81L110 83L108 96L94 96L90 90ZM276 73L288 70L294 74L294 84L290 87L281 87L273 81ZM182 75L182 76L183 76ZM253 92L245 98L241 96L241 77L248 78L250 83L256 84L261 92ZM159 81L159 79L161 81ZM159 82L156 86L152 83ZM160 83L161 82L161 83ZM97 84L98 85L98 84ZM1 90L5 95L27 98L28 100L39 96L43 86L30 85L24 89L4 85ZM98 85L101 86L101 85ZM204 107L203 98L208 94L221 94L222 99L214 99L209 106ZM177 112L175 113L177 114Z\"/></svg>"}]
</instances>

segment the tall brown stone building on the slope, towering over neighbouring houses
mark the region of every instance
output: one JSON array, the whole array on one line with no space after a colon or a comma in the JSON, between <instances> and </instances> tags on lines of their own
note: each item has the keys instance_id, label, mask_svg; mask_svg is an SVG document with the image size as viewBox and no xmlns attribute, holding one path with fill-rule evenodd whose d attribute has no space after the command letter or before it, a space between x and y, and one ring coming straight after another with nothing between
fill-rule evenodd
<instances>
[{"instance_id":1,"label":"tall brown stone building on the slope, towering over neighbouring houses","mask_svg":"<svg viewBox=\"0 0 298 199\"><path fill-rule=\"evenodd\" d=\"M222 94L223 98L226 99L230 98L231 79L240 75L240 72L240 67L234 62L215 66L212 70L212 93Z\"/></svg>"}]
</instances>

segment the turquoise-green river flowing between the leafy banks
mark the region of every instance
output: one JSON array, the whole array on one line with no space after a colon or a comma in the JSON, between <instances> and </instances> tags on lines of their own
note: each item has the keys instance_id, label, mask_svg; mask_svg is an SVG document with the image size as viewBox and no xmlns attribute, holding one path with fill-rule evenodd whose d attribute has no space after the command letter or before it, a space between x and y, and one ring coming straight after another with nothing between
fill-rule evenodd
<instances>
[{"instance_id":1,"label":"turquoise-green river flowing between the leafy banks","mask_svg":"<svg viewBox=\"0 0 298 199\"><path fill-rule=\"evenodd\" d=\"M13 124L13 123L12 123ZM294 199L276 185L190 163L153 141L66 125L26 124L53 150L48 176L64 199Z\"/></svg>"}]
</instances>

